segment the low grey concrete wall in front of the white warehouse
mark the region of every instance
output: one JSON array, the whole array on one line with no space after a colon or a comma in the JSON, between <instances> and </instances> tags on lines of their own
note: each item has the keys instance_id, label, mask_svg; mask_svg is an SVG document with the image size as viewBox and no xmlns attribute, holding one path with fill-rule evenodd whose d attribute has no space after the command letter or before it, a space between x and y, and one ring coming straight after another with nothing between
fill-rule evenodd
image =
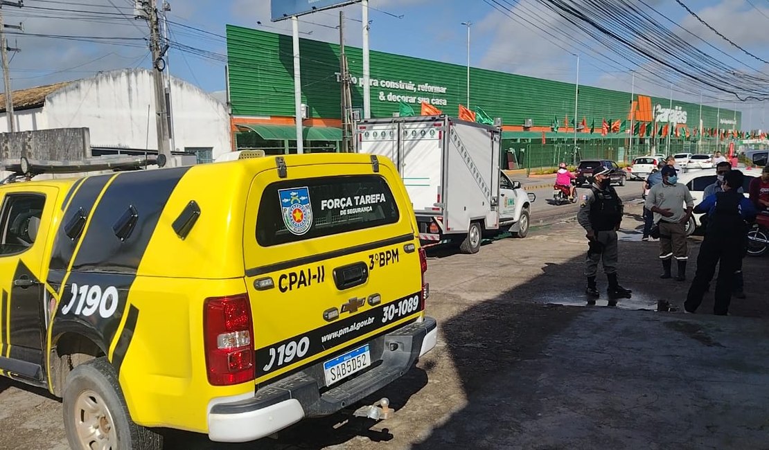
<instances>
[{"instance_id":1,"label":"low grey concrete wall in front of the white warehouse","mask_svg":"<svg viewBox=\"0 0 769 450\"><path fill-rule=\"evenodd\" d=\"M29 160L83 160L90 157L88 128L60 128L0 134L0 159L18 163Z\"/></svg>"}]
</instances>

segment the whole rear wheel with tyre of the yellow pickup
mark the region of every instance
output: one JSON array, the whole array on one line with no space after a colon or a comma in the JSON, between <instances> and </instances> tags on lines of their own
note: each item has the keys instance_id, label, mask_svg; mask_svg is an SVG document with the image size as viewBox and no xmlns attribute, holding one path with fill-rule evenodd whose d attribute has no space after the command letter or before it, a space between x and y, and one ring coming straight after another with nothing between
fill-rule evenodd
<instances>
[{"instance_id":1,"label":"whole rear wheel with tyre of the yellow pickup","mask_svg":"<svg viewBox=\"0 0 769 450\"><path fill-rule=\"evenodd\" d=\"M118 376L104 357L69 372L62 399L70 448L160 450L161 435L136 425L128 414Z\"/></svg>"}]
</instances>

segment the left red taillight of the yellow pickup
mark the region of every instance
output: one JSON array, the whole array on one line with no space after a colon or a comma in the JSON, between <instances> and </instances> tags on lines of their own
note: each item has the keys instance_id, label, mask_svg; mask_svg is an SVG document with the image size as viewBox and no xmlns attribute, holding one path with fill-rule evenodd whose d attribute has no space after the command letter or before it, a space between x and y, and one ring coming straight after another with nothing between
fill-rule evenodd
<instances>
[{"instance_id":1,"label":"left red taillight of the yellow pickup","mask_svg":"<svg viewBox=\"0 0 769 450\"><path fill-rule=\"evenodd\" d=\"M205 369L211 385L236 385L255 379L253 329L248 294L205 299Z\"/></svg>"}]
</instances>

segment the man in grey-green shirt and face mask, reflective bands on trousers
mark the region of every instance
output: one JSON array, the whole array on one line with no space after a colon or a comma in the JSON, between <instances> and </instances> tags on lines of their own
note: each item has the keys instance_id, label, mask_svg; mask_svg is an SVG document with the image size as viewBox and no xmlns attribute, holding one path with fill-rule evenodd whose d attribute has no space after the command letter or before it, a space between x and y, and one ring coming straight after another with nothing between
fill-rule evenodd
<instances>
[{"instance_id":1,"label":"man in grey-green shirt and face mask, reflective bands on trousers","mask_svg":"<svg viewBox=\"0 0 769 450\"><path fill-rule=\"evenodd\" d=\"M686 223L691 218L694 199L689 188L678 183L677 170L667 165L660 172L662 183L651 188L645 203L647 209L654 213L654 222L660 227L660 260L663 270L660 277L672 277L671 266L674 258L678 265L676 280L684 281L689 254Z\"/></svg>"}]
</instances>

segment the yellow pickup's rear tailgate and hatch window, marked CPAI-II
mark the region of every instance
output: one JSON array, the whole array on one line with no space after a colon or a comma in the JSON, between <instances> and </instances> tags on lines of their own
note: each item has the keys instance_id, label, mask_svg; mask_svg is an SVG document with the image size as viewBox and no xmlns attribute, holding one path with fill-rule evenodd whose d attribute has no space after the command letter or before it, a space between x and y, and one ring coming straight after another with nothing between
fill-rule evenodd
<instances>
[{"instance_id":1,"label":"yellow pickup's rear tailgate and hatch window, marked CPAI-II","mask_svg":"<svg viewBox=\"0 0 769 450\"><path fill-rule=\"evenodd\" d=\"M379 167L291 166L290 178L253 180L243 242L258 384L312 362L334 384L375 363L368 338L421 316L413 211L394 167ZM348 354L357 366L339 369Z\"/></svg>"}]
</instances>

